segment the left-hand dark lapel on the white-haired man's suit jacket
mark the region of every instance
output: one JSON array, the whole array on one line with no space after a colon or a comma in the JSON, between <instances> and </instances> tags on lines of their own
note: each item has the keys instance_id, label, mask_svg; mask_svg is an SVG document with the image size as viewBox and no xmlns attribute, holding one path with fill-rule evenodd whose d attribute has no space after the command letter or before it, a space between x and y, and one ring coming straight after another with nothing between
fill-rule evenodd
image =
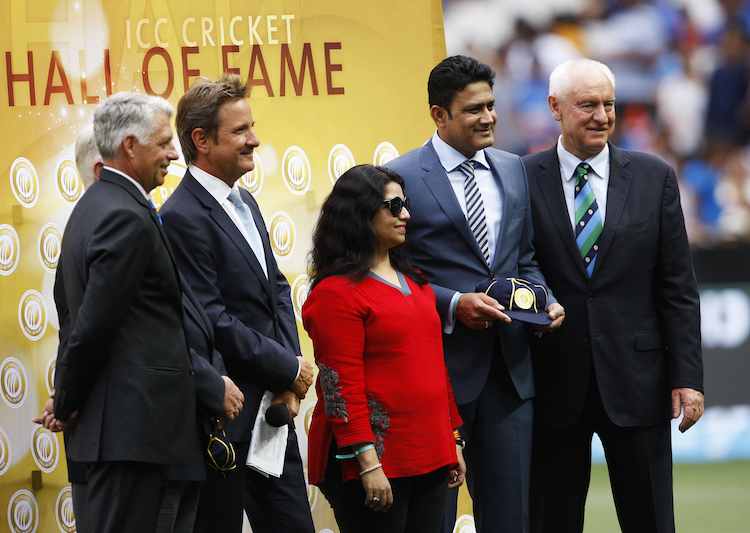
<instances>
[{"instance_id":1,"label":"left-hand dark lapel on the white-haired man's suit jacket","mask_svg":"<svg viewBox=\"0 0 750 533\"><path fill-rule=\"evenodd\" d=\"M557 150L555 148L549 150L539 166L541 167L539 189L547 206L549 220L557 230L563 247L568 251L576 268L582 276L586 277L586 265L576 245L573 228L570 225L570 215L568 214L568 205L565 202Z\"/></svg>"}]
</instances>

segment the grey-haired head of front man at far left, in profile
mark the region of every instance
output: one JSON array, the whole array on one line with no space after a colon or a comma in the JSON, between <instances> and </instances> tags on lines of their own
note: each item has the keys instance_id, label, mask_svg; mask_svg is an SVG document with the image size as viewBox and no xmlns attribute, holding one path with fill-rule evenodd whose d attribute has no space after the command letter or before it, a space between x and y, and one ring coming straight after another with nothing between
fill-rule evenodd
<instances>
[{"instance_id":1,"label":"grey-haired head of front man at far left, in profile","mask_svg":"<svg viewBox=\"0 0 750 533\"><path fill-rule=\"evenodd\" d=\"M171 117L172 106L158 96L122 92L107 98L94 112L102 159L150 192L164 183L169 163L178 157Z\"/></svg>"}]
</instances>

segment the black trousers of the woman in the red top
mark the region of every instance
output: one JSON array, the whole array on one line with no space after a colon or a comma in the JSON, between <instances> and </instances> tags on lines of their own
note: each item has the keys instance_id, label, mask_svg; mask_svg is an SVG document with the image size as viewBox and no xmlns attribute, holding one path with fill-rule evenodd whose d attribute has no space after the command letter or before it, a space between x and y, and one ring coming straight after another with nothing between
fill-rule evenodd
<instances>
[{"instance_id":1,"label":"black trousers of the woman in the red top","mask_svg":"<svg viewBox=\"0 0 750 533\"><path fill-rule=\"evenodd\" d=\"M345 483L332 480L321 487L328 503L333 507L341 533L440 531L448 497L447 468L389 481L393 491L393 505L385 512L373 511L365 505L365 491L358 479Z\"/></svg>"}]
</instances>

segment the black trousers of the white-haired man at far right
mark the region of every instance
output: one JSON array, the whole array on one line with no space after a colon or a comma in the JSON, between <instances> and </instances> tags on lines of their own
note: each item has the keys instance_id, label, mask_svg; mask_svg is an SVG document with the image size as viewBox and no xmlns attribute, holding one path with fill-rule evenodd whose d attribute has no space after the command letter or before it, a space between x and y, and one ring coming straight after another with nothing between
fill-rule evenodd
<instances>
[{"instance_id":1,"label":"black trousers of the white-haired man at far right","mask_svg":"<svg viewBox=\"0 0 750 533\"><path fill-rule=\"evenodd\" d=\"M591 478L591 439L599 435L623 533L674 533L670 423L619 427L592 379L578 423L537 427L532 467L532 531L581 533Z\"/></svg>"}]
</instances>

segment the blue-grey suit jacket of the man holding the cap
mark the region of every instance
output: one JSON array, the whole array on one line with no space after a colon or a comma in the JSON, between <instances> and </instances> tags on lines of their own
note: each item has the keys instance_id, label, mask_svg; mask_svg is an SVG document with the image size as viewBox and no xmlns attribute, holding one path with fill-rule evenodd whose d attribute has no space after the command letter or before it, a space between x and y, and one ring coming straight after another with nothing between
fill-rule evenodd
<instances>
[{"instance_id":1,"label":"blue-grey suit jacket of the man holding the cap","mask_svg":"<svg viewBox=\"0 0 750 533\"><path fill-rule=\"evenodd\" d=\"M484 261L431 142L387 165L406 182L411 213L409 251L432 284L444 320L456 291L475 292L481 282L492 277L523 277L545 284L534 260L531 209L521 159L494 148L485 153L503 209L491 266ZM443 344L459 404L479 396L492 360L498 357L498 346L518 395L522 399L534 396L527 331L520 322L487 331L470 330L458 322L453 333L443 335Z\"/></svg>"}]
</instances>

